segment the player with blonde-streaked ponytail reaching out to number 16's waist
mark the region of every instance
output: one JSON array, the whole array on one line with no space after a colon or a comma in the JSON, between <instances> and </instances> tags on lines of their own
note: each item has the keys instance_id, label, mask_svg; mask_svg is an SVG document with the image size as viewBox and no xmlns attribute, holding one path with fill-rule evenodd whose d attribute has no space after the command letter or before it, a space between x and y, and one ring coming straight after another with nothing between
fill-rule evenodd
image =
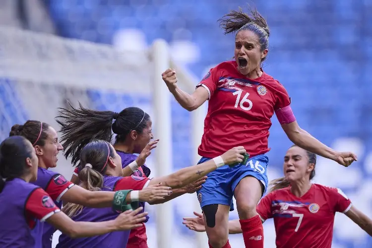
<instances>
[{"instance_id":1,"label":"player with blonde-streaked ponytail reaching out to number 16's waist","mask_svg":"<svg viewBox=\"0 0 372 248\"><path fill-rule=\"evenodd\" d=\"M222 160L227 161L228 164L238 161L239 157L241 157L241 154L238 152L238 149L235 148L221 155ZM106 160L108 160L109 163L104 166ZM82 169L79 172L79 178L82 181L82 185L90 190L102 189L116 191L128 188L140 190L148 185L155 185L158 183L164 183L173 188L179 188L202 177L203 174L216 169L214 161L211 161L209 164L207 163L186 167L173 174L152 179L135 175L122 177L123 169L121 166L121 157L110 143L98 140L88 143L81 150L80 166ZM132 196L132 199L134 198L135 195ZM170 199L172 199L171 196L166 197L165 200L156 201L154 203L163 203ZM82 208L77 204L70 203L63 207L63 212L75 221L110 220L118 215L111 209L102 211L102 209ZM128 237L129 232L113 233L111 235L102 235L100 237L87 239L71 239L62 235L57 248L91 246L121 248L126 246ZM137 243L136 245L137 247L143 247L141 243Z\"/></svg>"}]
</instances>

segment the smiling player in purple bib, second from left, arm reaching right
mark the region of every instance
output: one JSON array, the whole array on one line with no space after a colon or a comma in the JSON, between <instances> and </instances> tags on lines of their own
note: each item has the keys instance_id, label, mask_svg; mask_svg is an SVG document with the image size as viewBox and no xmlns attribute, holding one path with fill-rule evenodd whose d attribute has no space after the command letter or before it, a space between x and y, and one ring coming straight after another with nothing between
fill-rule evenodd
<instances>
[{"instance_id":1,"label":"smiling player in purple bib, second from left, arm reaching right","mask_svg":"<svg viewBox=\"0 0 372 248\"><path fill-rule=\"evenodd\" d=\"M61 200L89 207L103 208L112 205L113 192L92 192L79 186L72 187L74 185L72 182L67 181L61 174L48 169L57 166L58 154L63 149L53 127L44 122L28 120L23 125L14 125L9 133L9 136L13 135L21 135L34 145L39 158L39 167L37 180L32 183L42 187L59 208L62 207ZM146 191L140 192L141 200L150 201L153 197L163 199L170 192L169 187L163 186L150 187ZM32 234L36 244L42 243L43 248L51 248L55 231L52 226L38 222ZM41 234L43 235L41 236Z\"/></svg>"}]
</instances>

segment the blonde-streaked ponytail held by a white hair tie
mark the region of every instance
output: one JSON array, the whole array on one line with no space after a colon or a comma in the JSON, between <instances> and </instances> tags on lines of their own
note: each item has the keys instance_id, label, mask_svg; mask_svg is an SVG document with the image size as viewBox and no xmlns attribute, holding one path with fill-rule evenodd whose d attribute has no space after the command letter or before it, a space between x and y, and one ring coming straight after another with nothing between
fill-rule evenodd
<instances>
[{"instance_id":1,"label":"blonde-streaked ponytail held by a white hair tie","mask_svg":"<svg viewBox=\"0 0 372 248\"><path fill-rule=\"evenodd\" d=\"M86 164L79 172L79 186L89 191L99 191L103 187L103 176L100 172ZM83 210L83 206L75 203L67 203L62 211L70 218L78 215Z\"/></svg>"}]
</instances>

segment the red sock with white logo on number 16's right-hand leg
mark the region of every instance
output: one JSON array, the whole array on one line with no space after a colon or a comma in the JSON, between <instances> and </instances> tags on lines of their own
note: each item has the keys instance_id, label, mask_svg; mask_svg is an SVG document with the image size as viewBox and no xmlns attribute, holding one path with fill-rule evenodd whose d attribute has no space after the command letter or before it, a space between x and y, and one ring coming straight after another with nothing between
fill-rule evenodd
<instances>
[{"instance_id":1,"label":"red sock with white logo on number 16's right-hand leg","mask_svg":"<svg viewBox=\"0 0 372 248\"><path fill-rule=\"evenodd\" d=\"M246 248L263 248L263 227L258 215L248 220L240 220Z\"/></svg>"}]
</instances>

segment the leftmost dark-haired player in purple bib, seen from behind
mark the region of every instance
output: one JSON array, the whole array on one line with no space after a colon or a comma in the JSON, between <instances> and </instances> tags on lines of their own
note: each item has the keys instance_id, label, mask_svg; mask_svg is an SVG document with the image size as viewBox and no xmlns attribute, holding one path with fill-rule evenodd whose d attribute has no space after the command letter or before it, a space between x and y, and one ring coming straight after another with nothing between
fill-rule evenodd
<instances>
[{"instance_id":1,"label":"leftmost dark-haired player in purple bib, seen from behind","mask_svg":"<svg viewBox=\"0 0 372 248\"><path fill-rule=\"evenodd\" d=\"M103 235L135 228L145 219L142 208L126 211L110 221L74 222L54 204L36 180L38 157L32 144L21 136L0 144L0 247L41 248L31 229L35 220L46 221L72 238ZM6 178L6 180L4 180Z\"/></svg>"}]
</instances>

